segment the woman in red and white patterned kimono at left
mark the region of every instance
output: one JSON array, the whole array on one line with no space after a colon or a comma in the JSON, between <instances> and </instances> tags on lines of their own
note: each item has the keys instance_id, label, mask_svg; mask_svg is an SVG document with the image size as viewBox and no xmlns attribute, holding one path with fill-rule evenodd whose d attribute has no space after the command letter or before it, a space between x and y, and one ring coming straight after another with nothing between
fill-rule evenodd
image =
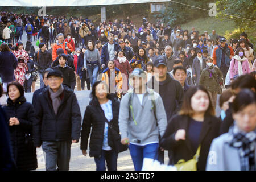
<instances>
[{"instance_id":1,"label":"woman in red and white patterned kimono at left","mask_svg":"<svg viewBox=\"0 0 256 182\"><path fill-rule=\"evenodd\" d=\"M15 45L14 56L18 60L18 67L14 70L16 81L24 85L25 74L28 71L27 62L29 59L27 51L23 49L23 43L17 42Z\"/></svg>"}]
</instances>

